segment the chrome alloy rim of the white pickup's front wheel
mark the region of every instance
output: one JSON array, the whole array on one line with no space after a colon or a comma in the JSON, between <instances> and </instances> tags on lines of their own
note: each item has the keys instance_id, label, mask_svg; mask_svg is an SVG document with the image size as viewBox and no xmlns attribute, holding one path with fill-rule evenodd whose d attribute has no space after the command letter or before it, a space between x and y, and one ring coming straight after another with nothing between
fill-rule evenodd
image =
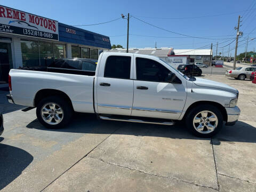
<instances>
[{"instance_id":1,"label":"chrome alloy rim of the white pickup's front wheel","mask_svg":"<svg viewBox=\"0 0 256 192\"><path fill-rule=\"evenodd\" d=\"M193 125L199 133L211 133L218 126L218 118L212 111L201 111L193 119Z\"/></svg>"}]
</instances>

